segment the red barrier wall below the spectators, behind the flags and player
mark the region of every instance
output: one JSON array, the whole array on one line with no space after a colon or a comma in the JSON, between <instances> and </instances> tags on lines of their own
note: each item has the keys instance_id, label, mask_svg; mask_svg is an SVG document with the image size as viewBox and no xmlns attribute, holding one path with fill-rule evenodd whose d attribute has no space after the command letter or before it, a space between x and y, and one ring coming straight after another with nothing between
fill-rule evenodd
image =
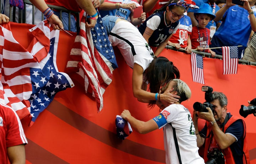
<instances>
[{"instance_id":1,"label":"red barrier wall below the spectators, behind the flags and player","mask_svg":"<svg viewBox=\"0 0 256 164\"><path fill-rule=\"evenodd\" d=\"M27 29L31 25L12 23L11 28L17 41L26 45ZM60 33L59 71L65 70L74 38L63 31ZM100 113L97 113L94 98L73 79L76 86L57 93L32 127L23 124L29 142L25 146L27 164L165 163L162 129L144 135L133 131L125 140L116 137L114 119L123 109L129 109L134 117L144 121L158 115L159 109L150 110L133 97L132 69L117 49L115 52L119 68L113 71L113 81L103 95L104 106ZM192 81L191 55L167 49L161 55L174 62L181 72L181 80L190 86L192 97L183 105L192 112L194 102L204 102L204 92L202 84ZM238 74L222 75L222 60L204 58L203 64L205 85L223 92L228 97L228 111L240 116L240 105L247 105L248 100L256 98L256 67L239 64ZM251 164L256 164L256 117L249 115L243 119L247 126Z\"/></svg>"}]
</instances>

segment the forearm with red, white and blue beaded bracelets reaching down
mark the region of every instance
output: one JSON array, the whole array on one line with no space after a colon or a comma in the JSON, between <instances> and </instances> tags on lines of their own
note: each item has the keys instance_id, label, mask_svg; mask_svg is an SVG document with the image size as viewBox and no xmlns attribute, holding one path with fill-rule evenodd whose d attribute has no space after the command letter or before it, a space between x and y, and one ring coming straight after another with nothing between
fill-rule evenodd
<instances>
[{"instance_id":1,"label":"forearm with red, white and blue beaded bracelets reaching down","mask_svg":"<svg viewBox=\"0 0 256 164\"><path fill-rule=\"evenodd\" d=\"M47 20L53 25L54 30L63 29L63 24L60 19L53 14L53 11L47 6L44 0L30 0L34 6L40 10Z\"/></svg>"}]
</instances>

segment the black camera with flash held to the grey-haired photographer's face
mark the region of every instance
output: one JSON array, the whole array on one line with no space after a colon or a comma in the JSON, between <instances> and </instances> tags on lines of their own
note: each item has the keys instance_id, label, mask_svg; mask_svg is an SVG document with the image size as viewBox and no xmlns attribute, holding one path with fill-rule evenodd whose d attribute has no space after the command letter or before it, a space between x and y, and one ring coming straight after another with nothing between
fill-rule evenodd
<instances>
[{"instance_id":1,"label":"black camera with flash held to the grey-haired photographer's face","mask_svg":"<svg viewBox=\"0 0 256 164\"><path fill-rule=\"evenodd\" d=\"M210 103L210 101L212 101L213 88L209 86L202 86L202 91L205 92L204 99L206 100L206 102L204 102L203 104L200 102L195 102L193 104L193 109L198 112L208 112L206 108L209 107L213 112L213 105Z\"/></svg>"}]
</instances>

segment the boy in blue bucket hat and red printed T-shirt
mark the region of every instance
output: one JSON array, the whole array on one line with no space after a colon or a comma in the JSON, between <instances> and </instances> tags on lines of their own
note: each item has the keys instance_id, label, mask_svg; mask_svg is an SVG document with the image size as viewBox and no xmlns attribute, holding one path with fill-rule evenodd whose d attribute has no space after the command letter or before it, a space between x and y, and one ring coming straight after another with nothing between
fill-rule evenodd
<instances>
[{"instance_id":1,"label":"boy in blue bucket hat and red printed T-shirt","mask_svg":"<svg viewBox=\"0 0 256 164\"><path fill-rule=\"evenodd\" d=\"M209 4L203 4L199 7L198 11L194 13L194 16L198 20L198 25L192 28L191 46L192 49L197 51L204 51L215 56L209 48L210 42L210 30L206 28L206 25L213 20L216 16L212 14L212 10Z\"/></svg>"}]
</instances>

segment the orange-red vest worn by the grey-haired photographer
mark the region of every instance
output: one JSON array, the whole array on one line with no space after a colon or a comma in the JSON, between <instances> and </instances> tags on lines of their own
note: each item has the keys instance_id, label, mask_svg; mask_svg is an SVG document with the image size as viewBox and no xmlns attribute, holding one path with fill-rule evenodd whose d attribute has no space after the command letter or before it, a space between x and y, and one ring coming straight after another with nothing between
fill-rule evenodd
<instances>
[{"instance_id":1,"label":"orange-red vest worn by the grey-haired photographer","mask_svg":"<svg viewBox=\"0 0 256 164\"><path fill-rule=\"evenodd\" d=\"M232 123L237 121L238 119L240 119L240 118L237 117L237 116L230 117L228 122L224 125L224 133L225 133L226 129L228 129L228 127ZM250 157L249 157L249 151L248 151L247 140L246 140L246 126L245 126L244 120L242 120L242 122L243 122L243 125L244 125L244 147L243 147L244 157L243 157L243 163L244 164L250 164ZM209 122L207 122L206 124L207 124L207 127L208 127L206 136L208 136L210 134L210 131L212 131L212 128L210 127ZM213 136L213 138L214 138L214 136ZM208 161L206 152L208 152L209 145L210 145L210 137L206 138L206 140L205 140L205 148L204 148L204 161L205 162ZM230 147L222 150L222 153L224 154L225 164L235 164L235 161L234 161L232 152L230 150Z\"/></svg>"}]
</instances>

